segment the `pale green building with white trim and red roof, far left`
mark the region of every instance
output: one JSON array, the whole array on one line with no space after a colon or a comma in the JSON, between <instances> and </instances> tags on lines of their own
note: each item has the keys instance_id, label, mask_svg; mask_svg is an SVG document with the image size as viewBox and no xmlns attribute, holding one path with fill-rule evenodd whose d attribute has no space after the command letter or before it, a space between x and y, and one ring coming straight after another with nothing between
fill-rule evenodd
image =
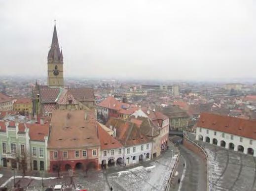
<instances>
[{"instance_id":1,"label":"pale green building with white trim and red roof, far left","mask_svg":"<svg viewBox=\"0 0 256 191\"><path fill-rule=\"evenodd\" d=\"M22 169L26 164L26 170L47 170L48 129L48 125L0 122L0 165Z\"/></svg>"}]
</instances>

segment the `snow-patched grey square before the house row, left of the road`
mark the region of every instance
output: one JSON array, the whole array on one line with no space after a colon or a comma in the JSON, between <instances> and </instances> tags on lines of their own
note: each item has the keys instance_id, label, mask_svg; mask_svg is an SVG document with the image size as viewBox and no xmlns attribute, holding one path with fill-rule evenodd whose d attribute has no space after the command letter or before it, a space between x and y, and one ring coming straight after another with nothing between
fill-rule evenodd
<instances>
[{"instance_id":1,"label":"snow-patched grey square before the house row, left of the road","mask_svg":"<svg viewBox=\"0 0 256 191\"><path fill-rule=\"evenodd\" d=\"M173 150L173 152L172 152ZM73 182L80 188L88 191L163 191L169 180L171 171L177 155L177 148L174 145L169 145L169 150L163 153L156 160L147 161L133 166L114 166L106 170L92 170L84 173L76 172L73 175ZM175 155L175 156L174 156ZM6 184L11 189L14 185L14 180L6 182L13 176L13 172L9 169L0 169L0 185ZM16 172L16 176L21 175ZM67 172L61 172L61 178L44 179L42 181L40 176L57 177L56 173L27 172L27 176L37 176L34 178L20 177L16 178L15 182L20 187L26 188L28 191L44 191L45 188L53 187L57 184L70 185L71 178L68 177ZM43 188L42 188L43 185Z\"/></svg>"}]
</instances>

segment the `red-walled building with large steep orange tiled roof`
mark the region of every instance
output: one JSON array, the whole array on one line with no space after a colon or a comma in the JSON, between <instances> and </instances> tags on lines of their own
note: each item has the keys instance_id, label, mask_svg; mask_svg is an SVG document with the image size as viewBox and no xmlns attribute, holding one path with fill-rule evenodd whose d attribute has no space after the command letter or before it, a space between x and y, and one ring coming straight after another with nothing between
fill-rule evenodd
<instances>
[{"instance_id":1,"label":"red-walled building with large steep orange tiled roof","mask_svg":"<svg viewBox=\"0 0 256 191\"><path fill-rule=\"evenodd\" d=\"M48 170L98 168L100 141L92 110L54 110L48 150Z\"/></svg>"}]
</instances>

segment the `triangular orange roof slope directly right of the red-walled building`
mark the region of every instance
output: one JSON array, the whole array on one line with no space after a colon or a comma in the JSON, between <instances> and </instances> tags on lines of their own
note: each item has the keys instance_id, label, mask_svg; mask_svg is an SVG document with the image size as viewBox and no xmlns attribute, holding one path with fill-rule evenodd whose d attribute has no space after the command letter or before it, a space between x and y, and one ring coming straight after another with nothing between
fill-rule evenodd
<instances>
[{"instance_id":1,"label":"triangular orange roof slope directly right of the red-walled building","mask_svg":"<svg viewBox=\"0 0 256 191\"><path fill-rule=\"evenodd\" d=\"M98 127L98 133L99 133L99 139L101 142L101 150L108 150L108 149L115 149L115 148L121 148L123 145L118 142L115 138L110 136L97 122Z\"/></svg>"}]
</instances>

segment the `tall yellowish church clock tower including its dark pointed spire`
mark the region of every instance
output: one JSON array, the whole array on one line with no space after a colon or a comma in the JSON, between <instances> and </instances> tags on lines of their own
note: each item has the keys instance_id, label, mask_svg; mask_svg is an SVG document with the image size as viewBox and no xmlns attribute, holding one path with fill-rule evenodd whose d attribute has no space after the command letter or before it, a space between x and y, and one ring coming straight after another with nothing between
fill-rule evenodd
<instances>
[{"instance_id":1,"label":"tall yellowish church clock tower including its dark pointed spire","mask_svg":"<svg viewBox=\"0 0 256 191\"><path fill-rule=\"evenodd\" d=\"M48 53L48 79L49 87L64 87L63 79L63 55L60 50L56 24L54 24L52 45Z\"/></svg>"}]
</instances>

